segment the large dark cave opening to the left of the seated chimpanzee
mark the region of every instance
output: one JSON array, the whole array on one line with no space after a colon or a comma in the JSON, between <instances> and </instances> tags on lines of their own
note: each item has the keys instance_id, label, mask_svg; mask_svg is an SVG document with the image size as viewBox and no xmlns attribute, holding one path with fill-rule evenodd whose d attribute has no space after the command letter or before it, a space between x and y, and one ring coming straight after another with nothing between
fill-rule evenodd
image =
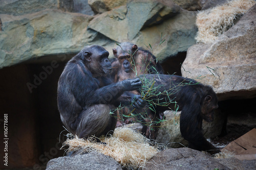
<instances>
[{"instance_id":1,"label":"large dark cave opening to the left of the seated chimpanzee","mask_svg":"<svg viewBox=\"0 0 256 170\"><path fill-rule=\"evenodd\" d=\"M57 108L57 83L64 67L64 62L56 61L0 69L0 107L8 114L9 168L44 169L50 159L65 155L60 148L68 132Z\"/></svg>"}]
</instances>

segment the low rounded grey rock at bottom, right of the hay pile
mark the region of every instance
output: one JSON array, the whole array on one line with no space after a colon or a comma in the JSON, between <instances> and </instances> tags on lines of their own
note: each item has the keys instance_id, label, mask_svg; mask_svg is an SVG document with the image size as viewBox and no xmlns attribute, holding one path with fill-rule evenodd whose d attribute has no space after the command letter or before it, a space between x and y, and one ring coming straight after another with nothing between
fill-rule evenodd
<instances>
[{"instance_id":1,"label":"low rounded grey rock at bottom, right of the hay pile","mask_svg":"<svg viewBox=\"0 0 256 170\"><path fill-rule=\"evenodd\" d=\"M144 169L229 169L217 159L189 148L166 149L149 160Z\"/></svg>"}]
</instances>

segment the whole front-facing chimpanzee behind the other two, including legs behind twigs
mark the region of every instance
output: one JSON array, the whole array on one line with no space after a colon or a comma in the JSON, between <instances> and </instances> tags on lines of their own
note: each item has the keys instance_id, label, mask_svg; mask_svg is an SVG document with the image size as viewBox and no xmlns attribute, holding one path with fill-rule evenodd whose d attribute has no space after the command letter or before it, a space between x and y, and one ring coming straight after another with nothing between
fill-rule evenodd
<instances>
[{"instance_id":1,"label":"whole front-facing chimpanzee behind the other two, including legs behind twigs","mask_svg":"<svg viewBox=\"0 0 256 170\"><path fill-rule=\"evenodd\" d=\"M156 57L151 52L143 50L141 47L138 48L136 44L130 42L120 43L117 48L113 48L113 54L116 57L115 60L112 61L113 71L111 78L114 82L132 79L143 74L163 73L162 66L159 62L157 62ZM132 93L140 95L136 91L133 91ZM124 117L123 122L121 117L122 115L127 114L127 112L129 112L127 108L122 108L120 111L118 111L117 126L136 122L136 119L140 119L139 117ZM150 122L156 122L156 120L161 116L159 116L158 113L153 113L152 110L148 108L135 110L135 112L146 113L146 117L144 117L142 120L142 122L144 122L142 133L148 138L155 139L158 125ZM150 124L152 124L152 127L147 126Z\"/></svg>"}]
</instances>

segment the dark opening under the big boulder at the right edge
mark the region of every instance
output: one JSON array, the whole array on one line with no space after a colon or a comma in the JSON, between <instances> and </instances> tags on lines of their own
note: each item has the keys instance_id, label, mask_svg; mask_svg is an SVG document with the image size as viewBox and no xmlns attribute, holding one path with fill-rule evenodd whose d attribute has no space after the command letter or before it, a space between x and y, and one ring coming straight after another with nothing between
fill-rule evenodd
<instances>
[{"instance_id":1,"label":"dark opening under the big boulder at the right edge","mask_svg":"<svg viewBox=\"0 0 256 170\"><path fill-rule=\"evenodd\" d=\"M226 100L218 104L225 120L221 134L212 139L212 142L222 149L231 141L256 128L256 98Z\"/></svg>"}]
</instances>

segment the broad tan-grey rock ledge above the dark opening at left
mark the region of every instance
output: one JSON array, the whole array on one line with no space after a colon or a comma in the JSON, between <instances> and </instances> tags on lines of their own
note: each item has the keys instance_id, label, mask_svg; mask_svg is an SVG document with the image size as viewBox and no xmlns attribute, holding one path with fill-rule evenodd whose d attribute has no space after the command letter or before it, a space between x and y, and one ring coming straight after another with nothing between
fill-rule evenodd
<instances>
[{"instance_id":1,"label":"broad tan-grey rock ledge above the dark opening at left","mask_svg":"<svg viewBox=\"0 0 256 170\"><path fill-rule=\"evenodd\" d=\"M75 54L97 36L87 31L93 18L89 15L47 9L21 16L0 14L0 18L0 68L40 56Z\"/></svg>"}]
</instances>

